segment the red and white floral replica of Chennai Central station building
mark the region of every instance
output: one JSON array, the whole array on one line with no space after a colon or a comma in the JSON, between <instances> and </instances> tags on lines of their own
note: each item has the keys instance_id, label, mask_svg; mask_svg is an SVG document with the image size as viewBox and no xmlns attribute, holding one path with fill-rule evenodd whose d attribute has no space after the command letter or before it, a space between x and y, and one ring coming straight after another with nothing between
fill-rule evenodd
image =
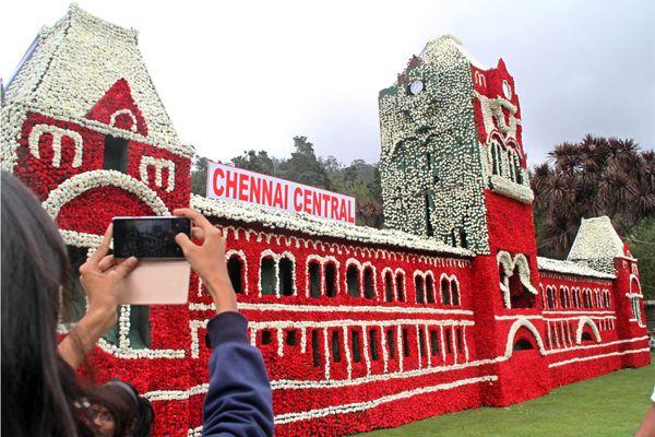
<instances>
[{"instance_id":1,"label":"red and white floral replica of Chennai Central station building","mask_svg":"<svg viewBox=\"0 0 655 437\"><path fill-rule=\"evenodd\" d=\"M501 60L429 43L380 93L379 231L190 194L181 144L136 33L72 5L8 83L2 167L43 201L74 265L115 215L191 205L228 270L273 387L277 434L344 435L650 363L636 260L607 217L569 260L536 255L521 109ZM78 311L84 310L82 291ZM156 435L199 435L213 306L122 306L93 362L155 406ZM62 327L66 329L66 327Z\"/></svg>"}]
</instances>

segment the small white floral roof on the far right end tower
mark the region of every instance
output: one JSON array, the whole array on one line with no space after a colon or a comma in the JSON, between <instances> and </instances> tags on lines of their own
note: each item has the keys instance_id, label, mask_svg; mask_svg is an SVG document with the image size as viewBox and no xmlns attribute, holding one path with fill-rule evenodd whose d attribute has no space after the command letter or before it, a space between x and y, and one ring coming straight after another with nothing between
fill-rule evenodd
<instances>
[{"instance_id":1,"label":"small white floral roof on the far right end tower","mask_svg":"<svg viewBox=\"0 0 655 437\"><path fill-rule=\"evenodd\" d=\"M582 218L569 260L614 259L626 256L623 241L609 217Z\"/></svg>"}]
</instances>

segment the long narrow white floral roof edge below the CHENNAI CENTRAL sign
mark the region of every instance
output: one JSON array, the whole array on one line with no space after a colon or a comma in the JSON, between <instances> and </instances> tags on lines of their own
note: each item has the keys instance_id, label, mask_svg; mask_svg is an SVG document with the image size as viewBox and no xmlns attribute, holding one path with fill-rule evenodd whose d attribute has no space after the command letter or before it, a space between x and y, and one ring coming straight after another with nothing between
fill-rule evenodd
<instances>
[{"instance_id":1,"label":"long narrow white floral roof edge below the CHENNAI CENTRAL sign","mask_svg":"<svg viewBox=\"0 0 655 437\"><path fill-rule=\"evenodd\" d=\"M405 249L448 253L458 257L472 257L466 249L444 245L433 238L426 238L392 229L376 229L315 217L306 213L289 214L285 211L269 210L255 204L229 202L191 196L191 208L204 215L234 220L246 223L259 223L264 227L283 228L309 235L343 238L350 241L395 246Z\"/></svg>"}]
</instances>

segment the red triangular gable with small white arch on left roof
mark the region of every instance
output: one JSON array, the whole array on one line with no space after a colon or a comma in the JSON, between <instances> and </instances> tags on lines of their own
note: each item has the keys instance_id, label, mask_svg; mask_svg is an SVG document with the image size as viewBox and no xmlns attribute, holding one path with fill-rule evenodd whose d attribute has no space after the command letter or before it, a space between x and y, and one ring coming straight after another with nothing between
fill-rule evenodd
<instances>
[{"instance_id":1,"label":"red triangular gable with small white arch on left roof","mask_svg":"<svg viewBox=\"0 0 655 437\"><path fill-rule=\"evenodd\" d=\"M85 118L147 137L143 114L132 98L130 84L122 78L111 85Z\"/></svg>"}]
</instances>

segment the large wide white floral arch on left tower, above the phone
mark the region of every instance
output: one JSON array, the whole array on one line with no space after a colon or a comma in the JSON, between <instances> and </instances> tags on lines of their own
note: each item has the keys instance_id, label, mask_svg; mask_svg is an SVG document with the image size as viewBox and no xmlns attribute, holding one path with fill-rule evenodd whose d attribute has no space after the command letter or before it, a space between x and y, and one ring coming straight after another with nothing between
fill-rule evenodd
<instances>
[{"instance_id":1,"label":"large wide white floral arch on left tower, above the phone","mask_svg":"<svg viewBox=\"0 0 655 437\"><path fill-rule=\"evenodd\" d=\"M48 194L43 203L52 218L57 218L61 208L85 191L99 187L118 187L136 196L157 215L170 215L164 201L155 191L140 180L116 170L92 170L64 180Z\"/></svg>"}]
</instances>

